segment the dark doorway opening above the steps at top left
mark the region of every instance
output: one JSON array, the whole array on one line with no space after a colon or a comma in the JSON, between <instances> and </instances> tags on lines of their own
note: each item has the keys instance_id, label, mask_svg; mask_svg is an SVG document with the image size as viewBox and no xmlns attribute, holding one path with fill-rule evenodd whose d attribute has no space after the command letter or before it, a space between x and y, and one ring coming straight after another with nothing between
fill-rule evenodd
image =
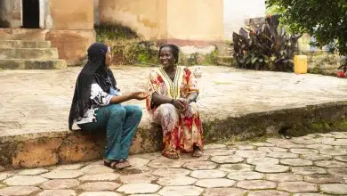
<instances>
[{"instance_id":1,"label":"dark doorway opening above the steps at top left","mask_svg":"<svg viewBox=\"0 0 347 196\"><path fill-rule=\"evenodd\" d=\"M22 0L23 28L40 28L40 6L38 0Z\"/></svg>"}]
</instances>

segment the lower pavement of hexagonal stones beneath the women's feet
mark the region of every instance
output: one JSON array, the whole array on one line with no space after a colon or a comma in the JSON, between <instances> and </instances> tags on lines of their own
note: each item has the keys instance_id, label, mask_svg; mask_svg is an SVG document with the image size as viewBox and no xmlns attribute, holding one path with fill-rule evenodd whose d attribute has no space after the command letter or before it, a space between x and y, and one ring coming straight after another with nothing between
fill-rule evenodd
<instances>
[{"instance_id":1,"label":"lower pavement of hexagonal stones beneath the women's feet","mask_svg":"<svg viewBox=\"0 0 347 196\"><path fill-rule=\"evenodd\" d=\"M347 195L347 132L209 144L198 159L157 152L130 161L122 171L99 160L0 173L0 195Z\"/></svg>"}]
</instances>

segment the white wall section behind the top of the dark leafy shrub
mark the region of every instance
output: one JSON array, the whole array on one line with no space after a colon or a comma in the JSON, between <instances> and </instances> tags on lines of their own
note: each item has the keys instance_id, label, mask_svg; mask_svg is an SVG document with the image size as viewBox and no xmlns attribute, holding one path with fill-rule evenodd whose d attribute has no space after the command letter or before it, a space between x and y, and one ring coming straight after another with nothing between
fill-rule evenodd
<instances>
[{"instance_id":1,"label":"white wall section behind the top of the dark leafy shrub","mask_svg":"<svg viewBox=\"0 0 347 196\"><path fill-rule=\"evenodd\" d=\"M249 18L264 17L265 0L223 0L224 1L224 38L232 39L232 32L238 33Z\"/></svg>"}]
</instances>

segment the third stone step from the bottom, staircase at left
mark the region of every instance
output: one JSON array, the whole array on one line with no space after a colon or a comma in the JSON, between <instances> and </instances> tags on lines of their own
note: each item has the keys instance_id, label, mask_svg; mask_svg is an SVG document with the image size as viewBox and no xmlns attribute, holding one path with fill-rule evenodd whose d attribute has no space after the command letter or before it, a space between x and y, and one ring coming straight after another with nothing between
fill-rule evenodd
<instances>
[{"instance_id":1,"label":"third stone step from the bottom, staircase at left","mask_svg":"<svg viewBox=\"0 0 347 196\"><path fill-rule=\"evenodd\" d=\"M50 41L0 40L0 48L50 48Z\"/></svg>"}]
</instances>

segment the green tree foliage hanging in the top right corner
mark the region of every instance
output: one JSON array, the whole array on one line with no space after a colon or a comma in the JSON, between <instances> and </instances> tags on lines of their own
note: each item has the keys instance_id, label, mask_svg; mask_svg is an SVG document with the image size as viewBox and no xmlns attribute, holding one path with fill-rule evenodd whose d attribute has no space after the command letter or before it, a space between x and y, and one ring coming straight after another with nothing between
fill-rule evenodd
<instances>
[{"instance_id":1,"label":"green tree foliage hanging in the top right corner","mask_svg":"<svg viewBox=\"0 0 347 196\"><path fill-rule=\"evenodd\" d=\"M347 54L346 0L266 0L269 8L283 14L281 22L295 33L310 33L314 45L331 45Z\"/></svg>"}]
</instances>

